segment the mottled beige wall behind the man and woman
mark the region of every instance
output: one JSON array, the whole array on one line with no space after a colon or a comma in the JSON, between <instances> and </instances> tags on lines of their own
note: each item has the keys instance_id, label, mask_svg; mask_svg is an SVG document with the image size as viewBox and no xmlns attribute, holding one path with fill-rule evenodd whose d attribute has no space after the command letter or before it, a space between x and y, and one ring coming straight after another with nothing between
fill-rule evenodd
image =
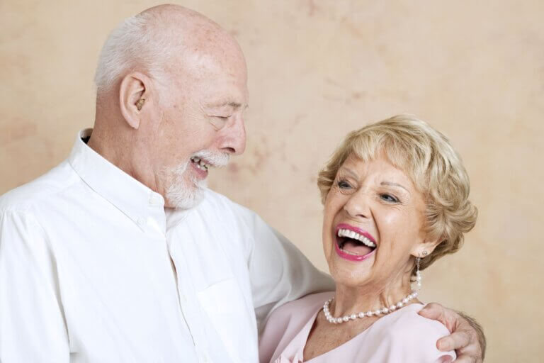
<instances>
[{"instance_id":1,"label":"mottled beige wall behind the man and woman","mask_svg":"<svg viewBox=\"0 0 544 363\"><path fill-rule=\"evenodd\" d=\"M154 4L0 0L0 194L60 162L92 125L103 40ZM463 155L480 208L465 247L424 273L423 297L480 320L487 362L540 362L544 2L183 4L231 30L249 63L248 149L212 187L326 269L319 167L349 130L418 114Z\"/></svg>"}]
</instances>

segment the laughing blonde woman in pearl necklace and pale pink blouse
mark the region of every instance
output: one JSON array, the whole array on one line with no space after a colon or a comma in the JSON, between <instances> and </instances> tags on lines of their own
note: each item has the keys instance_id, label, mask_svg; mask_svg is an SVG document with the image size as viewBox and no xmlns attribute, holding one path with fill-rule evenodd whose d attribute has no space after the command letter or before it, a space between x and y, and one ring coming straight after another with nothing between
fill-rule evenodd
<instances>
[{"instance_id":1,"label":"laughing blonde woman in pearl necklace and pale pink blouse","mask_svg":"<svg viewBox=\"0 0 544 363\"><path fill-rule=\"evenodd\" d=\"M373 123L348 134L318 185L336 291L274 311L261 363L455 359L436 349L446 327L417 314L420 271L456 252L477 216L448 140L412 116Z\"/></svg>"}]
</instances>

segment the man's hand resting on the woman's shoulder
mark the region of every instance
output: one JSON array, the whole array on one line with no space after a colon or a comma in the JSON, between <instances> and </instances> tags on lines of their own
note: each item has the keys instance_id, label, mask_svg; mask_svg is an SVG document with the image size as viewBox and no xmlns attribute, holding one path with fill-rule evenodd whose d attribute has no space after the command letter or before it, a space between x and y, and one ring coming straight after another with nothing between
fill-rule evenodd
<instances>
[{"instance_id":1,"label":"man's hand resting on the woman's shoulder","mask_svg":"<svg viewBox=\"0 0 544 363\"><path fill-rule=\"evenodd\" d=\"M451 335L436 342L438 350L455 350L457 363L482 363L485 357L485 335L480 324L463 313L444 308L439 303L429 303L419 311L424 318L438 320L450 330Z\"/></svg>"}]
</instances>

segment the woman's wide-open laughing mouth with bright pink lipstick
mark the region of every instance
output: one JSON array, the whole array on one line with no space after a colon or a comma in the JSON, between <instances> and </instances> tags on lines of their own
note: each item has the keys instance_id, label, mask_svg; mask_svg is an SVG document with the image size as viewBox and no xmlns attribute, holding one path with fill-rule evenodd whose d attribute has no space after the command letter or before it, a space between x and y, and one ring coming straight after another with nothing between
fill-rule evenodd
<instances>
[{"instance_id":1,"label":"woman's wide-open laughing mouth with bright pink lipstick","mask_svg":"<svg viewBox=\"0 0 544 363\"><path fill-rule=\"evenodd\" d=\"M351 261L363 261L376 250L374 238L367 232L352 225L336 226L336 253Z\"/></svg>"}]
</instances>

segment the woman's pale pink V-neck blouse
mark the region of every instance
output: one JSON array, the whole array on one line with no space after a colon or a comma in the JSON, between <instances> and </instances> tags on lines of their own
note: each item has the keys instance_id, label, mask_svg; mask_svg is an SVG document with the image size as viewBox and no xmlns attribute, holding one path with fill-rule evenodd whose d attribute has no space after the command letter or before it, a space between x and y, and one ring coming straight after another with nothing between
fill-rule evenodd
<instances>
[{"instance_id":1,"label":"woman's pale pink V-neck blouse","mask_svg":"<svg viewBox=\"0 0 544 363\"><path fill-rule=\"evenodd\" d=\"M261 363L399 363L443 362L455 352L440 352L436 340L449 335L436 320L418 315L424 305L413 303L378 319L343 345L305 361L302 353L317 313L334 293L307 295L276 309L259 341ZM341 329L342 325L338 325ZM445 362L448 362L446 360Z\"/></svg>"}]
</instances>

